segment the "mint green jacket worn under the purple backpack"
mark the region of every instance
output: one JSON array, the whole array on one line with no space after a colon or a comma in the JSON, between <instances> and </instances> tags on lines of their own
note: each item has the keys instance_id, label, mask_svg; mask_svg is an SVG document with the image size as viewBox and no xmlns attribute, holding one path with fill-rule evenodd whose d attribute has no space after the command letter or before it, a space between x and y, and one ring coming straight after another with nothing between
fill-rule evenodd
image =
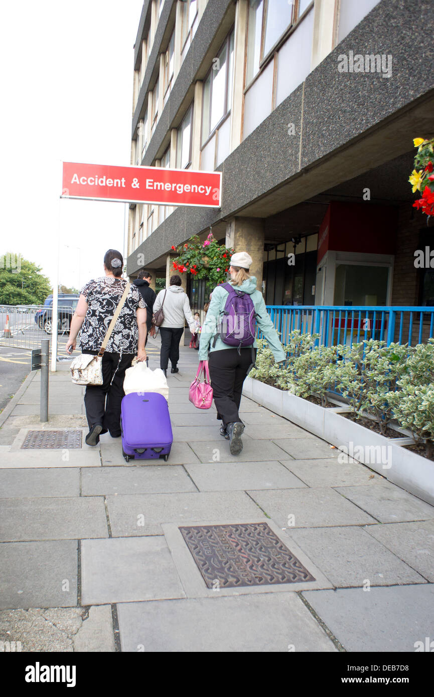
<instances>
[{"instance_id":1,"label":"mint green jacket worn under the purple backpack","mask_svg":"<svg viewBox=\"0 0 434 697\"><path fill-rule=\"evenodd\" d=\"M257 326L262 331L265 339L267 339L269 347L273 352L274 359L276 362L285 360L285 352L283 351L278 333L276 332L274 324L271 322L265 307L262 293L260 293L260 291L258 291L256 288L255 276L250 276L249 279L241 283L241 286L234 286L234 288L237 289L237 291L244 291L245 293L250 294L253 305L255 305L255 312L257 313ZM199 344L199 360L208 360L208 351L222 351L223 348L233 348L233 346L224 344L220 339L220 336L217 337L216 346L214 346L214 337L217 334L218 321L220 320L223 310L225 309L228 294L229 293L227 293L227 290L221 286L217 286L212 293L207 317L202 324L202 333L200 335ZM253 346L256 347L256 339Z\"/></svg>"}]
</instances>

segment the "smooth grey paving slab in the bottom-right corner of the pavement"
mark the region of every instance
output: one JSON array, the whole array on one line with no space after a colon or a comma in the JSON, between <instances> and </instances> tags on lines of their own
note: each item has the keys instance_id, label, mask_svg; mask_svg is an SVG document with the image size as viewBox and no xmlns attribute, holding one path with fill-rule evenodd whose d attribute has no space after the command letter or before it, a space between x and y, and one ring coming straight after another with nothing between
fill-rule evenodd
<instances>
[{"instance_id":1,"label":"smooth grey paving slab in the bottom-right corner of the pavement","mask_svg":"<svg viewBox=\"0 0 434 697\"><path fill-rule=\"evenodd\" d=\"M421 650L417 642L425 645L427 636L432 641L434 585L398 585L369 592L313 590L303 595L347 651L414 652Z\"/></svg>"}]
</instances>

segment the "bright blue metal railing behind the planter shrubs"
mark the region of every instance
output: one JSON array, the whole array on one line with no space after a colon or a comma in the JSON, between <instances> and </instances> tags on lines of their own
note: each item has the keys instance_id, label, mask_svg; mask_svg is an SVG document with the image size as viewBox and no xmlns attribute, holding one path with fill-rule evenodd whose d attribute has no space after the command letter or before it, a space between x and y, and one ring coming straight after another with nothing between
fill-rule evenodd
<instances>
[{"instance_id":1,"label":"bright blue metal railing behind the planter shrubs","mask_svg":"<svg viewBox=\"0 0 434 697\"><path fill-rule=\"evenodd\" d=\"M319 334L322 346L352 346L364 339L414 346L434 337L434 307L267 305L267 312L283 344L295 329Z\"/></svg>"}]
</instances>

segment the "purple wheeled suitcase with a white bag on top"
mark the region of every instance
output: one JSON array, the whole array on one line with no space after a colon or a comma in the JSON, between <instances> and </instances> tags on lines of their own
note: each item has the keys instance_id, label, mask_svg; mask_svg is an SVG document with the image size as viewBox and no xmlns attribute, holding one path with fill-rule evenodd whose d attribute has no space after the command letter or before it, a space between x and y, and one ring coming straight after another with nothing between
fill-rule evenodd
<instances>
[{"instance_id":1,"label":"purple wheeled suitcase with a white bag on top","mask_svg":"<svg viewBox=\"0 0 434 697\"><path fill-rule=\"evenodd\" d=\"M122 454L130 459L167 461L173 435L169 407L158 392L130 392L121 404Z\"/></svg>"}]
</instances>

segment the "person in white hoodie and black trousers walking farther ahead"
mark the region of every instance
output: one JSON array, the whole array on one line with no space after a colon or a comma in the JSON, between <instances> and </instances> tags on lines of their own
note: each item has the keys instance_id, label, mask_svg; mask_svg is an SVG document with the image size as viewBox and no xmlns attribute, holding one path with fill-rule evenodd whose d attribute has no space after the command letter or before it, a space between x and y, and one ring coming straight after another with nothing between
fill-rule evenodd
<instances>
[{"instance_id":1,"label":"person in white hoodie and black trousers walking farther ahead","mask_svg":"<svg viewBox=\"0 0 434 697\"><path fill-rule=\"evenodd\" d=\"M181 288L181 278L177 275L170 277L169 288L160 291L154 302L154 313L163 307L164 320L160 325L161 351L160 368L167 376L169 358L172 364L170 372L178 373L179 342L184 332L185 320L188 322L190 332L195 330L195 320L191 314L190 300Z\"/></svg>"}]
</instances>

